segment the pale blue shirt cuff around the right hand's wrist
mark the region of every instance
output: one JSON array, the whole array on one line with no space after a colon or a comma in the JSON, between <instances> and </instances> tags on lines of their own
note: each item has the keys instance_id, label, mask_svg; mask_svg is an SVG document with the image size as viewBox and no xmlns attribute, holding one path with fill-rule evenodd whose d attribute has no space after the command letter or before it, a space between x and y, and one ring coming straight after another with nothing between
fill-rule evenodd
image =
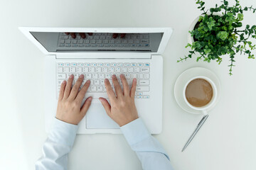
<instances>
[{"instance_id":1,"label":"pale blue shirt cuff around the right hand's wrist","mask_svg":"<svg viewBox=\"0 0 256 170\"><path fill-rule=\"evenodd\" d=\"M122 130L122 133L129 145L134 145L141 142L146 137L151 136L141 118L137 118L136 120L123 125L120 129Z\"/></svg>"}]
</instances>

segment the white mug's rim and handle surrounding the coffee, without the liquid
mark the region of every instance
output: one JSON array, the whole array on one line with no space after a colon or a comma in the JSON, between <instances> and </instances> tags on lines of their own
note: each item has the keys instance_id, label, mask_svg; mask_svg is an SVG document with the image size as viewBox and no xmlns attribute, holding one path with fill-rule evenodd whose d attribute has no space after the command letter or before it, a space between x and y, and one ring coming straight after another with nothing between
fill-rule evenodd
<instances>
[{"instance_id":1,"label":"white mug's rim and handle surrounding the coffee, without the liquid","mask_svg":"<svg viewBox=\"0 0 256 170\"><path fill-rule=\"evenodd\" d=\"M186 87L188 86L188 84L193 81L194 79L205 79L206 81L208 81L210 83L210 85L212 86L213 88L213 97L211 98L210 102L207 103L205 106L202 106L202 107L196 107L196 106L192 106L191 103L189 103L186 99ZM213 106L213 104L215 103L216 101L216 98L217 98L217 87L216 85L213 83L213 81L211 79L209 79L208 77L193 77L192 79L189 79L188 82L186 83L186 85L184 86L184 89L183 89L183 98L184 98L184 101L186 102L186 104L197 110L197 111L202 111L203 112L203 115L207 115L208 113L206 112L208 108L210 108L211 106Z\"/></svg>"}]
</instances>

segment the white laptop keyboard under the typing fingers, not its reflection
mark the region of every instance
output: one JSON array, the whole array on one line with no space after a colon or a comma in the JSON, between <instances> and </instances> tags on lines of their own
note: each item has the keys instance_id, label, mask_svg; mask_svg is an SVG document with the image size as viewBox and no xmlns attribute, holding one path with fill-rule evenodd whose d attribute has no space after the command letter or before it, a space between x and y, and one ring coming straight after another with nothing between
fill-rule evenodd
<instances>
[{"instance_id":1,"label":"white laptop keyboard under the typing fingers, not its reflection","mask_svg":"<svg viewBox=\"0 0 256 170\"><path fill-rule=\"evenodd\" d=\"M90 79L90 87L87 90L92 94L106 94L106 88L104 84L105 79L110 80L112 89L114 85L112 83L112 75L115 74L122 87L122 81L119 78L120 74L124 74L129 84L132 86L132 80L137 79L137 88L135 98L149 98L150 89L150 64L148 62L57 62L57 93L59 94L60 85L63 80L68 80L68 77L73 74L74 81L78 80L80 74L84 74L84 80L82 85ZM57 98L58 98L57 94ZM93 95L92 95L93 96ZM97 95L96 95L97 97Z\"/></svg>"}]
</instances>

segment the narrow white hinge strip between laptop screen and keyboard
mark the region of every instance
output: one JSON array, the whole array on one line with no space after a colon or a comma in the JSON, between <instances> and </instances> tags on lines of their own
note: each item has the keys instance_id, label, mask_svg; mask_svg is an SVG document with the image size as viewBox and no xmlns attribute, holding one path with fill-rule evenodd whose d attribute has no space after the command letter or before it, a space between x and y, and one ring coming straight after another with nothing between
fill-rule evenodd
<instances>
[{"instance_id":1,"label":"narrow white hinge strip between laptop screen and keyboard","mask_svg":"<svg viewBox=\"0 0 256 170\"><path fill-rule=\"evenodd\" d=\"M151 53L121 53L121 52L88 52L60 53L56 59L151 59Z\"/></svg>"}]
</instances>

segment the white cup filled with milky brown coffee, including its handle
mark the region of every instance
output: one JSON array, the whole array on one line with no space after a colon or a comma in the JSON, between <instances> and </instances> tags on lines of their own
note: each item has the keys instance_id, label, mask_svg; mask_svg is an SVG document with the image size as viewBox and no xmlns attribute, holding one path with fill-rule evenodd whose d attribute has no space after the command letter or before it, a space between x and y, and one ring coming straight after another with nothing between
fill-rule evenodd
<instances>
[{"instance_id":1,"label":"white cup filled with milky brown coffee, including its handle","mask_svg":"<svg viewBox=\"0 0 256 170\"><path fill-rule=\"evenodd\" d=\"M193 77L184 86L183 98L190 108L207 115L207 109L216 101L217 87L208 77Z\"/></svg>"}]
</instances>

